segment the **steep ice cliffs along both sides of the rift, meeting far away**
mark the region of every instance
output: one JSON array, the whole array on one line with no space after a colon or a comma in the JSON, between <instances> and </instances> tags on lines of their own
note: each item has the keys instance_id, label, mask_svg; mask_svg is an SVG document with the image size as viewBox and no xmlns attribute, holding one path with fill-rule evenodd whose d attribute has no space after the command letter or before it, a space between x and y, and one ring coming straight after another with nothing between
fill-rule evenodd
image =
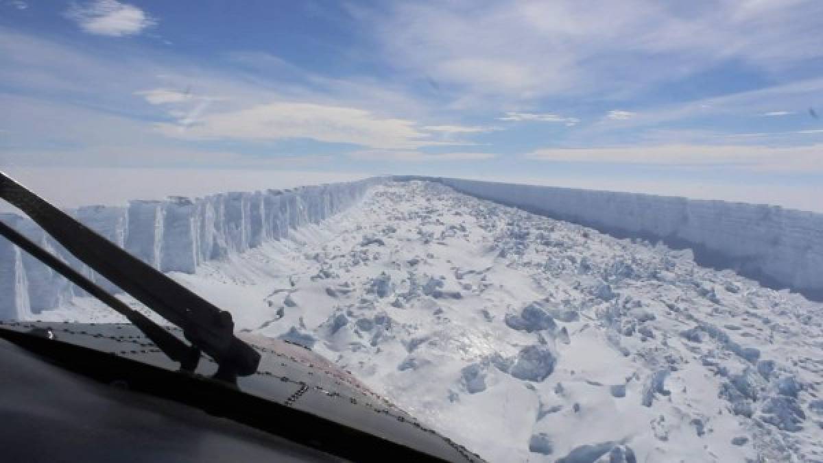
<instances>
[{"instance_id":1,"label":"steep ice cliffs along both sides of the rift, meeting far away","mask_svg":"<svg viewBox=\"0 0 823 463\"><path fill-rule=\"evenodd\" d=\"M603 192L457 178L430 180L475 197L598 229L625 238L691 248L704 266L730 268L775 289L823 300L823 215L727 201ZM227 192L188 199L131 201L128 206L86 206L78 220L161 271L193 273L202 262L244 252L290 229L346 209L384 178L286 191ZM29 220L0 215L107 289ZM0 238L0 319L58 307L81 290Z\"/></svg>"}]
</instances>

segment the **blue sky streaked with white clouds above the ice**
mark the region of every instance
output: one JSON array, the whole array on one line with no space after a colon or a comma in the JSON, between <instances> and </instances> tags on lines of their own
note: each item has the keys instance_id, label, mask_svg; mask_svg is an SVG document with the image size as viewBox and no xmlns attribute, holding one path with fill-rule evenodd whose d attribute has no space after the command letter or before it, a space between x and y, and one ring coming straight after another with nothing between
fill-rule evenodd
<instances>
[{"instance_id":1,"label":"blue sky streaked with white clouds above the ice","mask_svg":"<svg viewBox=\"0 0 823 463\"><path fill-rule=\"evenodd\" d=\"M158 192L204 170L426 174L823 211L821 30L818 0L0 0L0 169L52 189L106 169L173 173Z\"/></svg>"}]
</instances>

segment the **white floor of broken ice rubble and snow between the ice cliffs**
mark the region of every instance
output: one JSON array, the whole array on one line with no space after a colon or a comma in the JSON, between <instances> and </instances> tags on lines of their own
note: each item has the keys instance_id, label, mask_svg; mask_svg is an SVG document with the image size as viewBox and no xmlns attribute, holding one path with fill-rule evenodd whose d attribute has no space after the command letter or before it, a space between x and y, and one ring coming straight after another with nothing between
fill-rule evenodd
<instances>
[{"instance_id":1,"label":"white floor of broken ice rubble and snow between the ice cliffs","mask_svg":"<svg viewBox=\"0 0 823 463\"><path fill-rule=\"evenodd\" d=\"M821 303L439 183L354 204L257 247L226 216L225 254L170 275L490 461L823 460Z\"/></svg>"}]
</instances>

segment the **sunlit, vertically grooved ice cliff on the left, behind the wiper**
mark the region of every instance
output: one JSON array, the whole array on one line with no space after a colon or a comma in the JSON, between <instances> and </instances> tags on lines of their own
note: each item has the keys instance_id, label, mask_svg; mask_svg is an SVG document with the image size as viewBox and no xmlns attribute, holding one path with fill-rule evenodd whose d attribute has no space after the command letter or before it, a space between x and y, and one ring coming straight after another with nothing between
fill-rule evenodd
<instances>
[{"instance_id":1,"label":"sunlit, vertically grooved ice cliff on the left, behind the wiper","mask_svg":"<svg viewBox=\"0 0 823 463\"><path fill-rule=\"evenodd\" d=\"M244 252L289 230L316 224L359 201L383 178L291 190L228 192L189 199L130 201L128 206L83 206L70 213L160 271L194 273L198 264ZM90 271L34 222L0 220L62 257L96 283L119 289ZM61 275L0 237L0 320L26 319L82 294Z\"/></svg>"}]
</instances>

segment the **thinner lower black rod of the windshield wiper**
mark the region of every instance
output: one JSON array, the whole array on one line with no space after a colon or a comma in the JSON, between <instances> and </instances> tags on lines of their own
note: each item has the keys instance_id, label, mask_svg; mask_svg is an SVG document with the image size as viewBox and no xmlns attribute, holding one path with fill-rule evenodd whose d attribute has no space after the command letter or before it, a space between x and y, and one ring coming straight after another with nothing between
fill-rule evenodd
<instances>
[{"instance_id":1,"label":"thinner lower black rod of the windshield wiper","mask_svg":"<svg viewBox=\"0 0 823 463\"><path fill-rule=\"evenodd\" d=\"M137 326L149 340L155 343L158 349L162 350L170 359L179 362L181 370L193 372L194 369L197 368L200 359L200 350L198 350L197 347L186 345L186 343L179 340L177 336L174 336L169 331L165 331L162 326L152 322L151 319L142 313L128 307L123 301L115 298L105 289L100 288L99 285L96 285L93 281L81 275L78 271L58 259L58 257L53 256L51 252L40 248L40 246L32 242L29 238L17 232L16 229L12 229L12 227L2 222L0 222L0 235L16 244L17 247L28 252L31 256L37 258L40 262L51 267L60 275L66 277L67 280L79 286L86 291L86 293L100 299L102 303L113 308L114 312L128 318L128 321L132 322L134 326Z\"/></svg>"}]
</instances>

